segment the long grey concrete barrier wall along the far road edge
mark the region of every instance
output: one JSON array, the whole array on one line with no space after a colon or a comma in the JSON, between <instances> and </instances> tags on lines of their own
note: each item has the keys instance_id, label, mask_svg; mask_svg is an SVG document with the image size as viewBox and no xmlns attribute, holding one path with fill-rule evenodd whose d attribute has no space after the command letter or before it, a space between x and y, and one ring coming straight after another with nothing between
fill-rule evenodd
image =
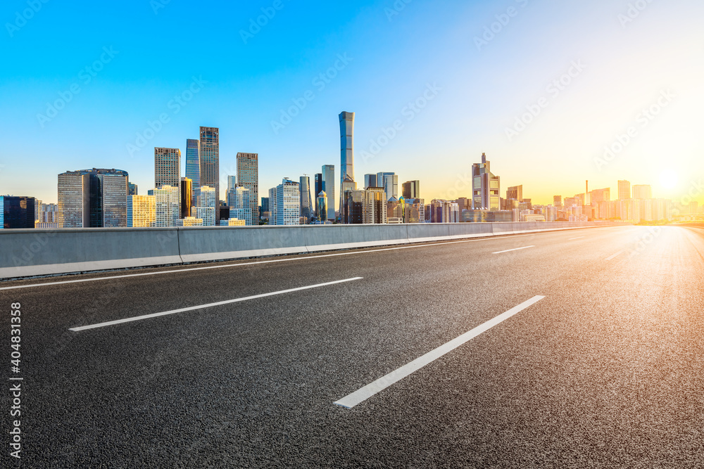
<instances>
[{"instance_id":1,"label":"long grey concrete barrier wall along the far road edge","mask_svg":"<svg viewBox=\"0 0 704 469\"><path fill-rule=\"evenodd\" d=\"M606 226L607 221L0 230L0 278Z\"/></svg>"}]
</instances>

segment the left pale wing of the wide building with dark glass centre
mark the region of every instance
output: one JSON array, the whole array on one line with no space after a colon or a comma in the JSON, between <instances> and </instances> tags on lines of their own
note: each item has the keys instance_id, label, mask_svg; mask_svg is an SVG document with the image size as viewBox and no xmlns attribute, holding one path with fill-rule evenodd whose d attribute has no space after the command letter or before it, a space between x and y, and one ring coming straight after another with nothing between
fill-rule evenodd
<instances>
[{"instance_id":1,"label":"left pale wing of the wide building with dark glass centre","mask_svg":"<svg viewBox=\"0 0 704 469\"><path fill-rule=\"evenodd\" d=\"M90 227L90 175L68 171L58 175L58 226Z\"/></svg>"}]
</instances>

